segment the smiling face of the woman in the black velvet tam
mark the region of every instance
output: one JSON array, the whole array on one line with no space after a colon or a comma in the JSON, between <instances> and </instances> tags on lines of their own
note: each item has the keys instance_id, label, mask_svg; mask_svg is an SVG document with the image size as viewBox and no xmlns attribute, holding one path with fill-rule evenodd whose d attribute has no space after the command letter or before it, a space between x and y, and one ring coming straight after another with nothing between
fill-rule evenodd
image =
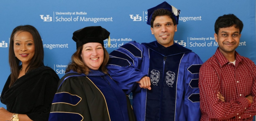
<instances>
[{"instance_id":1,"label":"smiling face of the woman in the black velvet tam","mask_svg":"<svg viewBox=\"0 0 256 121\"><path fill-rule=\"evenodd\" d=\"M83 45L81 57L85 65L98 70L104 59L104 50L100 43L90 42Z\"/></svg>"}]
</instances>

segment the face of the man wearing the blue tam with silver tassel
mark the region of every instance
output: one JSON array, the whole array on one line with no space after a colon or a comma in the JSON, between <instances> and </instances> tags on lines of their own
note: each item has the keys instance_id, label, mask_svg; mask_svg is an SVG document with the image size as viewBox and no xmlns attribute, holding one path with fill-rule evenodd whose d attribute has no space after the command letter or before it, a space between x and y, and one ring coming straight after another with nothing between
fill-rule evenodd
<instances>
[{"instance_id":1,"label":"face of the man wearing the blue tam with silver tassel","mask_svg":"<svg viewBox=\"0 0 256 121\"><path fill-rule=\"evenodd\" d=\"M164 47L173 45L174 33L177 31L177 24L173 24L173 20L167 16L157 16L153 22L151 33L154 34L157 42Z\"/></svg>"}]
</instances>

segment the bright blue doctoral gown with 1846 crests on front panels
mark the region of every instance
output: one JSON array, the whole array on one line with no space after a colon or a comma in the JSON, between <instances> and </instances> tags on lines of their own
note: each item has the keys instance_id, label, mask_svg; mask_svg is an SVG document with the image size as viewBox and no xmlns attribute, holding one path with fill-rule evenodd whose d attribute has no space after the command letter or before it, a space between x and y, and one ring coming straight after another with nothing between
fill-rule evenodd
<instances>
[{"instance_id":1,"label":"bright blue doctoral gown with 1846 crests on front panels","mask_svg":"<svg viewBox=\"0 0 256 121\"><path fill-rule=\"evenodd\" d=\"M130 46L138 48L142 57L135 57ZM189 85L192 79L198 79L198 73L194 72L199 71L195 71L199 68L190 68L194 74L188 70L189 67L200 67L203 63L197 54L177 43L165 48L156 41L142 44L132 41L125 48L121 46L116 51L126 54L134 62L130 62L130 66L120 67L115 65L114 60L121 57L110 53L113 58L109 60L107 68L111 77L118 81L117 84L127 94L133 92L136 120L200 120L200 104L194 100L199 100L199 89L198 86L192 88ZM143 76L150 77L151 90L141 89L136 83Z\"/></svg>"}]
</instances>

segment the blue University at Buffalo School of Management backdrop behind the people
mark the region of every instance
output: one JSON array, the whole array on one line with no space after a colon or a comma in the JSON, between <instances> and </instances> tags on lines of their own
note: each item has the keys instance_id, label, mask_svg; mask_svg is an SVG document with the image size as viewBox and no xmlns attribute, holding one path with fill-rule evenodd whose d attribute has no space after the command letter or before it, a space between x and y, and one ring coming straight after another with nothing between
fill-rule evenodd
<instances>
[{"instance_id":1,"label":"blue University at Buffalo School of Management backdrop behind the people","mask_svg":"<svg viewBox=\"0 0 256 121\"><path fill-rule=\"evenodd\" d=\"M19 25L35 26L42 37L45 65L61 78L76 51L74 31L86 26L102 26L110 32L112 52L130 41L155 41L147 22L147 9L163 1L155 0L44 0L0 1L0 94L10 74L8 49L12 30ZM215 20L233 13L244 23L239 47L242 56L256 62L255 0L167 0L181 10L174 42L197 53L203 62L218 47L214 38ZM132 98L132 96L130 96ZM0 103L0 107L6 107Z\"/></svg>"}]
</instances>

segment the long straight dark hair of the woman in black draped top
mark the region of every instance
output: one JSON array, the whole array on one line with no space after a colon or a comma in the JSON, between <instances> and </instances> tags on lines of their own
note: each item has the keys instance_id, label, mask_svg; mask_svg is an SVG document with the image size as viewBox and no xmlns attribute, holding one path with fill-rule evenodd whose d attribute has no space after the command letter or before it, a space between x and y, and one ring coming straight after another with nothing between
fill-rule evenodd
<instances>
[{"instance_id":1,"label":"long straight dark hair of the woman in black draped top","mask_svg":"<svg viewBox=\"0 0 256 121\"><path fill-rule=\"evenodd\" d=\"M9 87L13 85L13 83L18 79L19 77L19 66L21 65L21 61L15 57L14 54L14 35L17 32L20 31L26 31L32 34L34 39L34 45L35 45L35 55L31 59L30 63L28 64L27 68L25 69L25 73L30 72L31 70L38 68L40 66L43 66L43 59L44 59L44 50L43 50L43 42L41 39L41 36L37 29L31 25L24 25L24 26L17 26L13 29L11 34L11 42L9 46L9 64L11 68L11 82Z\"/></svg>"}]
</instances>

